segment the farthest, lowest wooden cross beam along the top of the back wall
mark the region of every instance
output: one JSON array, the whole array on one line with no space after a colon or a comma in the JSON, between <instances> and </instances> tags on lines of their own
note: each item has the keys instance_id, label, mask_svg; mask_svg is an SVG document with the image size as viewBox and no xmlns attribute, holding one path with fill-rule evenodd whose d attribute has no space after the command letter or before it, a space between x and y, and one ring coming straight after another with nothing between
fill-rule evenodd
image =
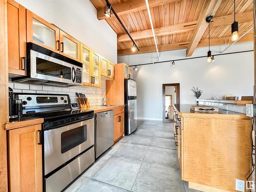
<instances>
[{"instance_id":1,"label":"farthest, lowest wooden cross beam along the top of the back wall","mask_svg":"<svg viewBox=\"0 0 256 192\"><path fill-rule=\"evenodd\" d=\"M221 38L212 38L210 39L211 46L217 46L217 45L225 45L225 41L228 43L228 41L231 41L230 37L221 37ZM241 38L238 42L246 42L246 41L253 41L253 34L245 35L243 38ZM187 42L180 42L177 44L166 44L166 45L160 45L158 46L159 51L170 51L170 50L178 50L178 49L186 49L189 45L189 41ZM204 39L199 41L197 47L206 47L208 46L208 39ZM156 47L150 46L150 47L140 47L140 51L132 52L131 49L124 49L124 50L118 50L118 55L130 55L130 54L138 54L138 53L151 53L155 52ZM205 53L206 54L206 53Z\"/></svg>"}]
</instances>

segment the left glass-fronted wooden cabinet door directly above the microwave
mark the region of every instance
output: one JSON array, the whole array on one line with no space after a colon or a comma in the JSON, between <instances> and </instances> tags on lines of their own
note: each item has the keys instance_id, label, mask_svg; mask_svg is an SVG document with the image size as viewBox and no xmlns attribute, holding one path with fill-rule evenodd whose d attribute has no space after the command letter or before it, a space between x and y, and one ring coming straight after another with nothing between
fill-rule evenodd
<instances>
[{"instance_id":1,"label":"left glass-fronted wooden cabinet door directly above the microwave","mask_svg":"<svg viewBox=\"0 0 256 192\"><path fill-rule=\"evenodd\" d=\"M27 9L27 42L59 53L59 29Z\"/></svg>"}]
</instances>

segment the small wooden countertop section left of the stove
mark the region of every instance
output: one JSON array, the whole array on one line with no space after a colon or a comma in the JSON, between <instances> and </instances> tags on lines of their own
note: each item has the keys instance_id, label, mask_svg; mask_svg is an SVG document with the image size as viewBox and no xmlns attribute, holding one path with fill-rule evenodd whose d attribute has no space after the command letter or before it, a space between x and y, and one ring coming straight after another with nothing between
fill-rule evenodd
<instances>
[{"instance_id":1,"label":"small wooden countertop section left of the stove","mask_svg":"<svg viewBox=\"0 0 256 192\"><path fill-rule=\"evenodd\" d=\"M5 130L13 130L20 127L41 124L44 122L43 118L21 118L5 124Z\"/></svg>"}]
</instances>

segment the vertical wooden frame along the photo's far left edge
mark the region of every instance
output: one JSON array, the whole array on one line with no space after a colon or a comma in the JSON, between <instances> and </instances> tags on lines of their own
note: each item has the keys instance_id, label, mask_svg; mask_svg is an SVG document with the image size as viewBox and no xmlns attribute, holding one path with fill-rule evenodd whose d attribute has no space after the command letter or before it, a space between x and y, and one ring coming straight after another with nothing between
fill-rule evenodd
<instances>
[{"instance_id":1,"label":"vertical wooden frame along the photo's far left edge","mask_svg":"<svg viewBox=\"0 0 256 192\"><path fill-rule=\"evenodd\" d=\"M0 1L0 191L8 191L7 138L5 124L9 122L8 106L8 39L7 0Z\"/></svg>"}]
</instances>

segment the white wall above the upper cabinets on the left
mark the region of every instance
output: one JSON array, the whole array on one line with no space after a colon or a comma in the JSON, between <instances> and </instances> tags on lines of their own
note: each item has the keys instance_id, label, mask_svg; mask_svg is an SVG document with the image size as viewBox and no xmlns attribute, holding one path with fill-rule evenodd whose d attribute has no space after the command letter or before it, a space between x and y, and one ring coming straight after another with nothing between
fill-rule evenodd
<instances>
[{"instance_id":1,"label":"white wall above the upper cabinets on the left","mask_svg":"<svg viewBox=\"0 0 256 192\"><path fill-rule=\"evenodd\" d=\"M89 0L16 0L103 57L117 62L117 34Z\"/></svg>"}]
</instances>

